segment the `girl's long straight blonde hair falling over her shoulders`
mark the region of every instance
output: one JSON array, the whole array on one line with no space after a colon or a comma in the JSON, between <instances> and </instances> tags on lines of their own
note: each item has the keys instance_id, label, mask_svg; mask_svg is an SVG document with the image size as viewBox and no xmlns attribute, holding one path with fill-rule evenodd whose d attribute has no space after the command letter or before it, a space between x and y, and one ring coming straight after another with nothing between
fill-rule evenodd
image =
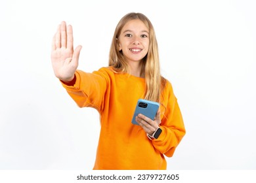
<instances>
[{"instance_id":1,"label":"girl's long straight blonde hair falling over her shoulders","mask_svg":"<svg viewBox=\"0 0 256 183\"><path fill-rule=\"evenodd\" d=\"M121 33L121 29L130 20L141 20L149 30L149 48L148 54L143 58L142 72L145 75L146 91L144 99L150 101L160 102L161 90L165 85L165 79L160 74L160 61L158 55L158 42L156 41L156 34L154 27L150 20L141 13L131 12L121 18L116 26L112 44L110 46L110 58L109 66L114 68L117 73L130 73L129 65L123 56L123 53L119 51L118 39Z\"/></svg>"}]
</instances>

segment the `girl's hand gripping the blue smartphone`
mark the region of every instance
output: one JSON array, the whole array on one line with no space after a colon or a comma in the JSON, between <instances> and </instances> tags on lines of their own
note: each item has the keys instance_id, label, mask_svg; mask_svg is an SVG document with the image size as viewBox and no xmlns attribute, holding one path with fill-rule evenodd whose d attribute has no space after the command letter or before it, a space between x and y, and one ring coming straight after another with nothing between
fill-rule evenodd
<instances>
[{"instance_id":1,"label":"girl's hand gripping the blue smartphone","mask_svg":"<svg viewBox=\"0 0 256 183\"><path fill-rule=\"evenodd\" d=\"M156 118L154 121L143 114L139 114L136 116L136 122L144 129L146 133L148 133L148 135L152 135L158 129L161 123L160 110L158 110L156 113Z\"/></svg>"}]
</instances>

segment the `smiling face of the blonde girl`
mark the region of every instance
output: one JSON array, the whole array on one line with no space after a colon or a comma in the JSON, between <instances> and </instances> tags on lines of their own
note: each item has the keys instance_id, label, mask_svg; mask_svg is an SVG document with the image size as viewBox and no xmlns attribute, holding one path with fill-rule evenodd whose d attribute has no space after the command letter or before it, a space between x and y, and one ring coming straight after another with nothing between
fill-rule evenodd
<instances>
[{"instance_id":1,"label":"smiling face of the blonde girl","mask_svg":"<svg viewBox=\"0 0 256 183\"><path fill-rule=\"evenodd\" d=\"M148 53L149 30L141 20L130 20L121 29L119 51L128 63L141 61Z\"/></svg>"}]
</instances>

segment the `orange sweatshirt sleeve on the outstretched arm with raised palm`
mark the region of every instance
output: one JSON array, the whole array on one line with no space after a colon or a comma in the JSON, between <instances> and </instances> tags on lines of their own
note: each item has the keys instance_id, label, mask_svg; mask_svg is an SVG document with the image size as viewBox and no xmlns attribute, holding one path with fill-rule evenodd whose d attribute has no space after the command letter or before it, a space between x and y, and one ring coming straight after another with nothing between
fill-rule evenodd
<instances>
[{"instance_id":1,"label":"orange sweatshirt sleeve on the outstretched arm with raised palm","mask_svg":"<svg viewBox=\"0 0 256 183\"><path fill-rule=\"evenodd\" d=\"M104 94L106 92L108 76L104 71L95 71L85 73L75 71L75 84L68 86L62 82L62 86L68 94L74 99L79 107L93 107L96 110L102 110L104 106Z\"/></svg>"}]
</instances>

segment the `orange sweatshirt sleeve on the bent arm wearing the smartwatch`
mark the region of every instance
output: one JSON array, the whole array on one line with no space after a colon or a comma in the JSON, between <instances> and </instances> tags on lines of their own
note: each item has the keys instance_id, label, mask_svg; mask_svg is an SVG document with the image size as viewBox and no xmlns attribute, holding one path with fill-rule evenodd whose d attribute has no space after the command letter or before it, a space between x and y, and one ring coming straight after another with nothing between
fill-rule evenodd
<instances>
[{"instance_id":1,"label":"orange sweatshirt sleeve on the bent arm wearing the smartwatch","mask_svg":"<svg viewBox=\"0 0 256 183\"><path fill-rule=\"evenodd\" d=\"M173 156L176 147L184 137L186 130L184 127L181 110L177 103L177 98L173 93L173 88L169 82L167 82L169 92L165 94L165 112L161 119L160 128L162 133L158 139L153 139L153 146L165 154L167 157Z\"/></svg>"}]
</instances>

